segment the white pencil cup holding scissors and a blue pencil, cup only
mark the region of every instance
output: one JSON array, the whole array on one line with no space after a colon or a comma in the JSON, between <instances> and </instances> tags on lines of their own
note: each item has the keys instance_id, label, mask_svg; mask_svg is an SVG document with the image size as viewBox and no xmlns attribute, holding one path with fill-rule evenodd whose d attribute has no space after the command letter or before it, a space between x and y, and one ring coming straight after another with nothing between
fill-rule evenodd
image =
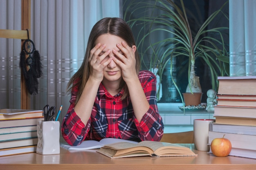
<instances>
[{"instance_id":1,"label":"white pencil cup holding scissors and a blue pencil, cup only","mask_svg":"<svg viewBox=\"0 0 256 170\"><path fill-rule=\"evenodd\" d=\"M60 153L60 122L38 121L37 137L38 143L36 153L51 155Z\"/></svg>"}]
</instances>

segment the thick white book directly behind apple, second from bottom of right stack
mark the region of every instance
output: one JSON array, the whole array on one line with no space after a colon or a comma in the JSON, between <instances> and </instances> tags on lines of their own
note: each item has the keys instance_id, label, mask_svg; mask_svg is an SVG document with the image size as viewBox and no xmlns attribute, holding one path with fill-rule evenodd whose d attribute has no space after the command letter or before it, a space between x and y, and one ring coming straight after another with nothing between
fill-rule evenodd
<instances>
[{"instance_id":1,"label":"thick white book directly behind apple, second from bottom of right stack","mask_svg":"<svg viewBox=\"0 0 256 170\"><path fill-rule=\"evenodd\" d=\"M256 135L244 135L244 134L236 134L236 133L227 133L227 132L213 132L209 131L209 141L215 138L222 138L225 135L225 138L229 139L231 142L232 148L243 148L243 149L253 149L256 150Z\"/></svg>"}]
</instances>

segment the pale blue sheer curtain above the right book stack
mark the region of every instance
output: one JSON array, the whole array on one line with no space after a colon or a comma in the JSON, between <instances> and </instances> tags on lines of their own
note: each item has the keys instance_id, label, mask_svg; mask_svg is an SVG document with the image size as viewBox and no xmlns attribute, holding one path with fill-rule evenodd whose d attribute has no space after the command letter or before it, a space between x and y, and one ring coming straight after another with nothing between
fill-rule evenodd
<instances>
[{"instance_id":1,"label":"pale blue sheer curtain above the right book stack","mask_svg":"<svg viewBox=\"0 0 256 170\"><path fill-rule=\"evenodd\" d=\"M230 76L256 76L256 0L229 1Z\"/></svg>"}]
</instances>

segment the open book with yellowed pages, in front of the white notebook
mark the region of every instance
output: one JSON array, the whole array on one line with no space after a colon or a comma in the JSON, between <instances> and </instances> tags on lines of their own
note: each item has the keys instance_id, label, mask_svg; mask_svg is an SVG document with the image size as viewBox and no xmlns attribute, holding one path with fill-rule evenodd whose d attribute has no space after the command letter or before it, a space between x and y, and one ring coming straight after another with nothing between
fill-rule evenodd
<instances>
[{"instance_id":1,"label":"open book with yellowed pages, in front of the white notebook","mask_svg":"<svg viewBox=\"0 0 256 170\"><path fill-rule=\"evenodd\" d=\"M157 141L141 141L138 144L119 142L105 145L97 152L110 158L197 156L190 148L185 146Z\"/></svg>"}]
</instances>

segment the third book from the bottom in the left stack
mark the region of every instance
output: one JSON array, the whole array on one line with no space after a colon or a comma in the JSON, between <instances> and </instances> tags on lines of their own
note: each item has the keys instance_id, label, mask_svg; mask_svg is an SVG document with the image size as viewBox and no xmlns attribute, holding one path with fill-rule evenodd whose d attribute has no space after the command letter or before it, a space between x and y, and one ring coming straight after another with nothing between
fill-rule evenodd
<instances>
[{"instance_id":1,"label":"third book from the bottom in the left stack","mask_svg":"<svg viewBox=\"0 0 256 170\"><path fill-rule=\"evenodd\" d=\"M0 135L0 142L3 141L14 141L14 140L21 140L21 139L30 139L37 137L37 131L32 132L14 132L9 134L1 134Z\"/></svg>"}]
</instances>

